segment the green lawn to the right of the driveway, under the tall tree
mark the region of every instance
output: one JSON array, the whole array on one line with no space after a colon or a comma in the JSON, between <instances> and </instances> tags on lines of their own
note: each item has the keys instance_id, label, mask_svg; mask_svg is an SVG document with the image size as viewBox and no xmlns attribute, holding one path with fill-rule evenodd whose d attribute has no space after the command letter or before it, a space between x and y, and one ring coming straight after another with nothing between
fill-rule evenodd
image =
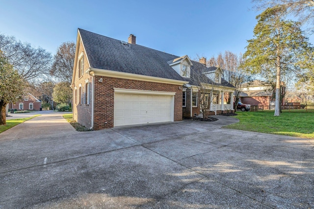
<instances>
[{"instance_id":1,"label":"green lawn to the right of the driveway, under the tall tree","mask_svg":"<svg viewBox=\"0 0 314 209\"><path fill-rule=\"evenodd\" d=\"M240 122L224 128L314 139L314 113L236 112Z\"/></svg>"}]
</instances>

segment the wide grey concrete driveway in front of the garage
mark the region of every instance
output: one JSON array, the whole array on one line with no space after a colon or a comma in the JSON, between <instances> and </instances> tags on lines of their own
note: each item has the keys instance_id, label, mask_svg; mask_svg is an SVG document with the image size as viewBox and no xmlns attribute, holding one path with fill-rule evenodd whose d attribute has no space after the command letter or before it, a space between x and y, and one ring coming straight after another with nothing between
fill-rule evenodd
<instances>
[{"instance_id":1,"label":"wide grey concrete driveway in front of the garage","mask_svg":"<svg viewBox=\"0 0 314 209\"><path fill-rule=\"evenodd\" d=\"M314 208L314 140L181 121L76 132L61 114L0 134L0 209Z\"/></svg>"}]
</instances>

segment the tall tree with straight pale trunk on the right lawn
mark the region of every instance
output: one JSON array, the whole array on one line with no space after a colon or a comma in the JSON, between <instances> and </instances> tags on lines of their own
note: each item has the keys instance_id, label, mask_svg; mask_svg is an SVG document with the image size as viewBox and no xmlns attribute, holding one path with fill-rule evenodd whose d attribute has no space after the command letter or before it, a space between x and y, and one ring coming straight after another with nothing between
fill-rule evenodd
<instances>
[{"instance_id":1,"label":"tall tree with straight pale trunk on the right lawn","mask_svg":"<svg viewBox=\"0 0 314 209\"><path fill-rule=\"evenodd\" d=\"M248 40L242 67L251 73L274 72L276 76L275 114L280 115L281 72L300 72L312 62L313 48L300 23L285 20L281 7L268 8L258 15L254 38Z\"/></svg>"}]
</instances>

